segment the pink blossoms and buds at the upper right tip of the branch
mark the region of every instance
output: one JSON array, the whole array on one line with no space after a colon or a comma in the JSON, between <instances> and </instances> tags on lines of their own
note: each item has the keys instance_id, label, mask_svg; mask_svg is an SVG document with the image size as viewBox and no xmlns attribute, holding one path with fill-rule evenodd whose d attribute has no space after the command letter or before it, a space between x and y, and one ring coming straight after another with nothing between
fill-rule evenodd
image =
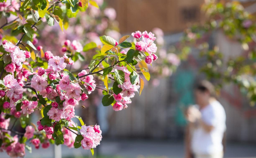
<instances>
[{"instance_id":1,"label":"pink blossoms and buds at the upper right tip of the branch","mask_svg":"<svg viewBox=\"0 0 256 158\"><path fill-rule=\"evenodd\" d=\"M154 33L148 33L147 31L141 33L141 31L136 31L135 33L132 33L132 36L138 40L135 44L136 50L147 52L149 54L145 59L147 64L151 64L152 61L155 61L158 58L156 54L154 54L157 50L156 44L154 43L156 40ZM140 38L142 38L141 41Z\"/></svg>"}]
</instances>

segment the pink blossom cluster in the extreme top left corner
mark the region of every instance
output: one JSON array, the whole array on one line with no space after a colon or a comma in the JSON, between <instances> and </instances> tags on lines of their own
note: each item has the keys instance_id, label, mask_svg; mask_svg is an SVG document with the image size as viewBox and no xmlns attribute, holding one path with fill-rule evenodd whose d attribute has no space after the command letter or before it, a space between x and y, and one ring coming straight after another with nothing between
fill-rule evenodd
<instances>
[{"instance_id":1,"label":"pink blossom cluster in the extreme top left corner","mask_svg":"<svg viewBox=\"0 0 256 158\"><path fill-rule=\"evenodd\" d=\"M6 0L0 3L0 12L15 12L15 10L19 10L20 5L17 3L16 0Z\"/></svg>"}]
</instances>

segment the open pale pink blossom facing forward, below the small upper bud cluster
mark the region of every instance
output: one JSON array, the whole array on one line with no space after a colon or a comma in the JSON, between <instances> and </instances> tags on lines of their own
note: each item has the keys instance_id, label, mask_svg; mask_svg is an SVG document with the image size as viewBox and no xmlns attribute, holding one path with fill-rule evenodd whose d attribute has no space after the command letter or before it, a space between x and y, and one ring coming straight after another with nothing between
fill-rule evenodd
<instances>
[{"instance_id":1,"label":"open pale pink blossom facing forward, below the small upper bud cluster","mask_svg":"<svg viewBox=\"0 0 256 158\"><path fill-rule=\"evenodd\" d=\"M51 59L49 59L48 69L52 69L54 71L61 71L67 66L67 63L65 63L64 61L65 59L63 57L60 58L59 56L53 56Z\"/></svg>"}]
</instances>

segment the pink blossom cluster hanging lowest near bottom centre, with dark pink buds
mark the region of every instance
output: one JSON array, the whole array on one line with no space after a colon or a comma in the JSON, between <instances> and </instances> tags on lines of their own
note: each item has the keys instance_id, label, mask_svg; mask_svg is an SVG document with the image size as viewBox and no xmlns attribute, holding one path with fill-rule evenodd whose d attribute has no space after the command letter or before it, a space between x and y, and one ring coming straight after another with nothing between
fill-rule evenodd
<instances>
[{"instance_id":1,"label":"pink blossom cluster hanging lowest near bottom centre, with dark pink buds","mask_svg":"<svg viewBox=\"0 0 256 158\"><path fill-rule=\"evenodd\" d=\"M100 144L102 139L101 130L99 125L86 126L83 125L80 130L81 135L84 139L81 141L82 148L85 150L90 150L91 148L96 148Z\"/></svg>"}]
</instances>

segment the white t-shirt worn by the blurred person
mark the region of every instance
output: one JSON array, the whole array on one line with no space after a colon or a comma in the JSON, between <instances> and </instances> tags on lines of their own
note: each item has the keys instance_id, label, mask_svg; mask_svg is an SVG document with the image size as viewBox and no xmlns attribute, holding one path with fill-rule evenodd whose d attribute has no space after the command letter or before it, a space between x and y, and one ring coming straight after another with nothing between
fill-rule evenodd
<instances>
[{"instance_id":1,"label":"white t-shirt worn by the blurred person","mask_svg":"<svg viewBox=\"0 0 256 158\"><path fill-rule=\"evenodd\" d=\"M226 114L220 102L213 101L201 110L202 121L214 128L207 133L201 126L192 132L192 151L195 154L213 154L223 151L222 139L226 130Z\"/></svg>"}]
</instances>

